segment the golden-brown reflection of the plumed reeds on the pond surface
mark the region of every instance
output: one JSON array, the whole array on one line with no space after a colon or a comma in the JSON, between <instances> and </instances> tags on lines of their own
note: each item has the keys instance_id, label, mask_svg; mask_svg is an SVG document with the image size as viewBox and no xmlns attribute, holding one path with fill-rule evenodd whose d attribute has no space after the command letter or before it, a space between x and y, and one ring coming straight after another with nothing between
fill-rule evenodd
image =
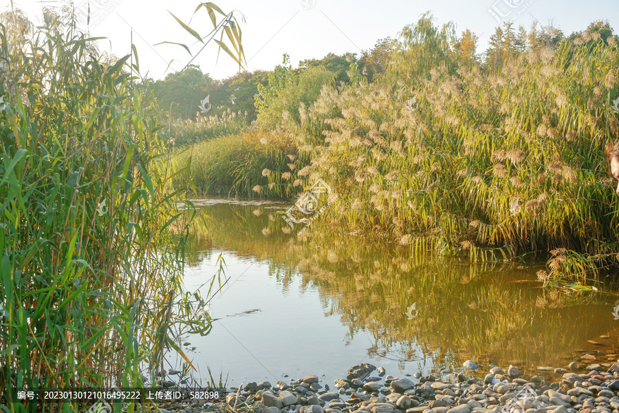
<instances>
[{"instance_id":1,"label":"golden-brown reflection of the plumed reeds on the pond surface","mask_svg":"<svg viewBox=\"0 0 619 413\"><path fill-rule=\"evenodd\" d=\"M357 335L371 340L357 359L391 360L401 370L405 363L414 366L428 359L435 370L457 368L466 359L534 370L565 366L583 351L616 352L615 297L545 291L535 277L539 263L436 260L410 248L371 242L336 225L286 234L278 215L286 204L202 203L211 219L188 251L189 273L223 249L263 264L272 280L269 288L280 288L281 295L296 283L301 290L317 290L321 317L338 317L347 328L346 342ZM237 275L228 271L228 276ZM224 300L235 299L230 287ZM279 309L283 315L287 310ZM265 330L257 318L243 320L245 328ZM308 328L288 326L290 334L299 335ZM331 337L334 342L342 338ZM279 351L286 357L286 351L296 350ZM336 373L341 377L345 371Z\"/></svg>"}]
</instances>

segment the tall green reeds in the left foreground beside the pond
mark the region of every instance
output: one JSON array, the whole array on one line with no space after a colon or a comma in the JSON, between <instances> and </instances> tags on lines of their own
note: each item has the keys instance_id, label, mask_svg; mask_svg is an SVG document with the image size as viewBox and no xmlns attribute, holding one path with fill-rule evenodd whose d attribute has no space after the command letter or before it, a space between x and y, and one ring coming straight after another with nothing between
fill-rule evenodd
<instances>
[{"instance_id":1,"label":"tall green reeds in the left foreground beside the pond","mask_svg":"<svg viewBox=\"0 0 619 413\"><path fill-rule=\"evenodd\" d=\"M184 355L184 321L210 328L178 297L191 216L158 112L130 56L107 61L74 21L46 10L21 43L12 30L0 26L0 388L153 383L164 351Z\"/></svg>"}]
</instances>

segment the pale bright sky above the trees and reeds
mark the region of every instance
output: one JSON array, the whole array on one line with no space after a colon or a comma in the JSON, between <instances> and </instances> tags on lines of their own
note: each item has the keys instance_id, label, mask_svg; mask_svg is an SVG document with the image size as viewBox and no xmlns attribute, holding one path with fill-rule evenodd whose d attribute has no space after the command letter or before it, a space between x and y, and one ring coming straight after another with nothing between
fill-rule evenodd
<instances>
[{"instance_id":1,"label":"pale bright sky above the trees and reeds","mask_svg":"<svg viewBox=\"0 0 619 413\"><path fill-rule=\"evenodd\" d=\"M10 0L0 0L0 10L10 6ZM129 54L131 28L133 43L138 49L142 75L159 79L166 73L182 69L191 56L177 45L155 45L173 41L193 45L195 54L202 47L185 32L170 13L182 21L192 19L200 3L197 0L74 0L78 10L87 10L90 3L90 33L105 36L100 50L116 56ZM479 49L486 49L499 21L514 21L514 25L529 28L539 21L552 23L566 34L587 28L591 21L607 20L619 33L619 0L217 0L224 12L237 10L246 22L241 22L247 68L272 70L281 63L282 55L290 55L294 67L303 59L320 59L329 52L360 53L378 39L395 38L404 25L415 23L420 15L431 11L435 23L453 21L460 35L470 29L479 36ZM59 6L54 0L13 0L34 23L41 21L43 6ZM494 14L494 16L493 16ZM202 8L190 24L202 35L210 32L206 10ZM209 43L193 63L213 78L227 78L238 71L238 65L226 54L217 59L217 44ZM168 64L173 62L168 68ZM166 72L167 70L167 72Z\"/></svg>"}]
</instances>

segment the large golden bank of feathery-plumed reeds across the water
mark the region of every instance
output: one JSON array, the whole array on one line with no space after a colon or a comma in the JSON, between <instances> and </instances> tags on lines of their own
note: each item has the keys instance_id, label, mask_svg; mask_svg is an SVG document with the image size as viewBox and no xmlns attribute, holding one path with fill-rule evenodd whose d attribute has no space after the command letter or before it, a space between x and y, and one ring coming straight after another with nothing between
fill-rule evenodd
<instances>
[{"instance_id":1,"label":"large golden bank of feathery-plumed reeds across the water","mask_svg":"<svg viewBox=\"0 0 619 413\"><path fill-rule=\"evenodd\" d=\"M473 261L563 248L550 257L553 275L584 281L616 266L619 251L604 154L619 134L617 67L613 36L595 32L530 46L500 65L441 63L374 83L351 64L348 84L323 86L312 105L299 103L298 118L283 112L276 126L303 167L292 171L278 151L254 151L253 162L235 154L252 131L208 147L189 179L209 191L242 182L289 197L323 178L338 195L329 213L352 231ZM241 159L252 167L239 169Z\"/></svg>"}]
</instances>

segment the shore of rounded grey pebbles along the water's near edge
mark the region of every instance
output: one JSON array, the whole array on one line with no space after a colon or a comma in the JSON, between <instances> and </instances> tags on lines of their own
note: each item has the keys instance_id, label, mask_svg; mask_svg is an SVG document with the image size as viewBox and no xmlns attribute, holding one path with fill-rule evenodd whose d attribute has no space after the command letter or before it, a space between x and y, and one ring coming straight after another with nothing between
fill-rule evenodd
<instances>
[{"instance_id":1,"label":"shore of rounded grey pebbles along the water's near edge","mask_svg":"<svg viewBox=\"0 0 619 413\"><path fill-rule=\"evenodd\" d=\"M345 379L322 383L302 379L247 383L231 388L225 401L162 405L161 412L243 413L619 413L619 364L572 364L539 368L525 378L517 366L480 368L466 361L461 372L439 377L393 377L368 363L354 366ZM578 374L580 373L580 374ZM438 376L438 374L437 374ZM409 378L410 377L410 378Z\"/></svg>"}]
</instances>

